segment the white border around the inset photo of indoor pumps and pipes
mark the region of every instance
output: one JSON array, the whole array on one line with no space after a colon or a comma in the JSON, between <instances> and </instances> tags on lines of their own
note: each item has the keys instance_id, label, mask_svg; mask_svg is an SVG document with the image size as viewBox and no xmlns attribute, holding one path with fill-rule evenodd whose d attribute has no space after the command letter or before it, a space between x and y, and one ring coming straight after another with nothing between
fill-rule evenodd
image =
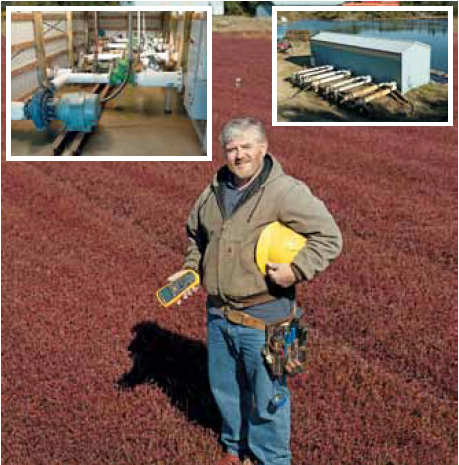
<instances>
[{"instance_id":1,"label":"white border around the inset photo of indoor pumps and pipes","mask_svg":"<svg viewBox=\"0 0 459 465\"><path fill-rule=\"evenodd\" d=\"M85 156L11 155L11 12L12 11L205 11L207 12L207 153L202 156ZM211 161L212 160L212 6L7 6L6 7L6 160L7 161ZM191 120L190 120L191 121ZM202 143L200 143L202 146Z\"/></svg>"}]
</instances>

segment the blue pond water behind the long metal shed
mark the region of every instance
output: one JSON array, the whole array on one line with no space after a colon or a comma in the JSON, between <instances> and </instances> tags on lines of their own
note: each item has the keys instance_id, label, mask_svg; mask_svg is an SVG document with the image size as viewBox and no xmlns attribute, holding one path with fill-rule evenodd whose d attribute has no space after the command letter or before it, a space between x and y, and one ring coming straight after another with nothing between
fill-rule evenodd
<instances>
[{"instance_id":1,"label":"blue pond water behind the long metal shed","mask_svg":"<svg viewBox=\"0 0 459 465\"><path fill-rule=\"evenodd\" d=\"M309 30L312 33L333 31L381 39L417 40L431 46L431 68L448 72L448 20L446 18L376 21L302 20L279 24L277 37L283 37L288 30Z\"/></svg>"}]
</instances>

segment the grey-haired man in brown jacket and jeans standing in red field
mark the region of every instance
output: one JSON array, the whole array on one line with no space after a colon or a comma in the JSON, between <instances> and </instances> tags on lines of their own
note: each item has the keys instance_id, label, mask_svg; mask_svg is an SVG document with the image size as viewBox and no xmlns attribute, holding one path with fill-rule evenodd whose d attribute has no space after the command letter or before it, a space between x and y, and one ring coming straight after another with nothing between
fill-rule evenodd
<instances>
[{"instance_id":1,"label":"grey-haired man in brown jacket and jeans standing in red field","mask_svg":"<svg viewBox=\"0 0 459 465\"><path fill-rule=\"evenodd\" d=\"M199 272L208 293L209 379L226 449L219 465L246 456L289 465L289 392L285 375L274 377L265 365L264 326L291 314L295 284L339 255L341 233L323 202L267 153L260 121L233 119L220 139L226 164L191 210L184 264ZM275 221L307 241L290 264L268 263L263 274L256 244Z\"/></svg>"}]
</instances>

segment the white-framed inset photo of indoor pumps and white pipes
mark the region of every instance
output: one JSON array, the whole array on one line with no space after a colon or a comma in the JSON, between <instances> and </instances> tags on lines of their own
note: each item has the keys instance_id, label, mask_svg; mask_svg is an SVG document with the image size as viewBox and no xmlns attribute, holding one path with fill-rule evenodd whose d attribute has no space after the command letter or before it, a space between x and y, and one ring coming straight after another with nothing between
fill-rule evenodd
<instances>
[{"instance_id":1,"label":"white-framed inset photo of indoor pumps and white pipes","mask_svg":"<svg viewBox=\"0 0 459 465\"><path fill-rule=\"evenodd\" d=\"M212 6L6 8L6 159L212 159Z\"/></svg>"}]
</instances>

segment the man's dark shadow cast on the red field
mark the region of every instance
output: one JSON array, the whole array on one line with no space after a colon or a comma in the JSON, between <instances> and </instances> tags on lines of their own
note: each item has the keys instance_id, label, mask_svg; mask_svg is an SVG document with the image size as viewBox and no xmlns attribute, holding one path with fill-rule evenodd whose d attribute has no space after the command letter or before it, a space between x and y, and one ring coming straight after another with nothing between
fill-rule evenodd
<instances>
[{"instance_id":1,"label":"man's dark shadow cast on the red field","mask_svg":"<svg viewBox=\"0 0 459 465\"><path fill-rule=\"evenodd\" d=\"M128 346L133 365L118 380L121 389L154 383L191 422L220 431L220 413L207 376L207 348L202 342L159 327L151 321L132 329Z\"/></svg>"}]
</instances>

